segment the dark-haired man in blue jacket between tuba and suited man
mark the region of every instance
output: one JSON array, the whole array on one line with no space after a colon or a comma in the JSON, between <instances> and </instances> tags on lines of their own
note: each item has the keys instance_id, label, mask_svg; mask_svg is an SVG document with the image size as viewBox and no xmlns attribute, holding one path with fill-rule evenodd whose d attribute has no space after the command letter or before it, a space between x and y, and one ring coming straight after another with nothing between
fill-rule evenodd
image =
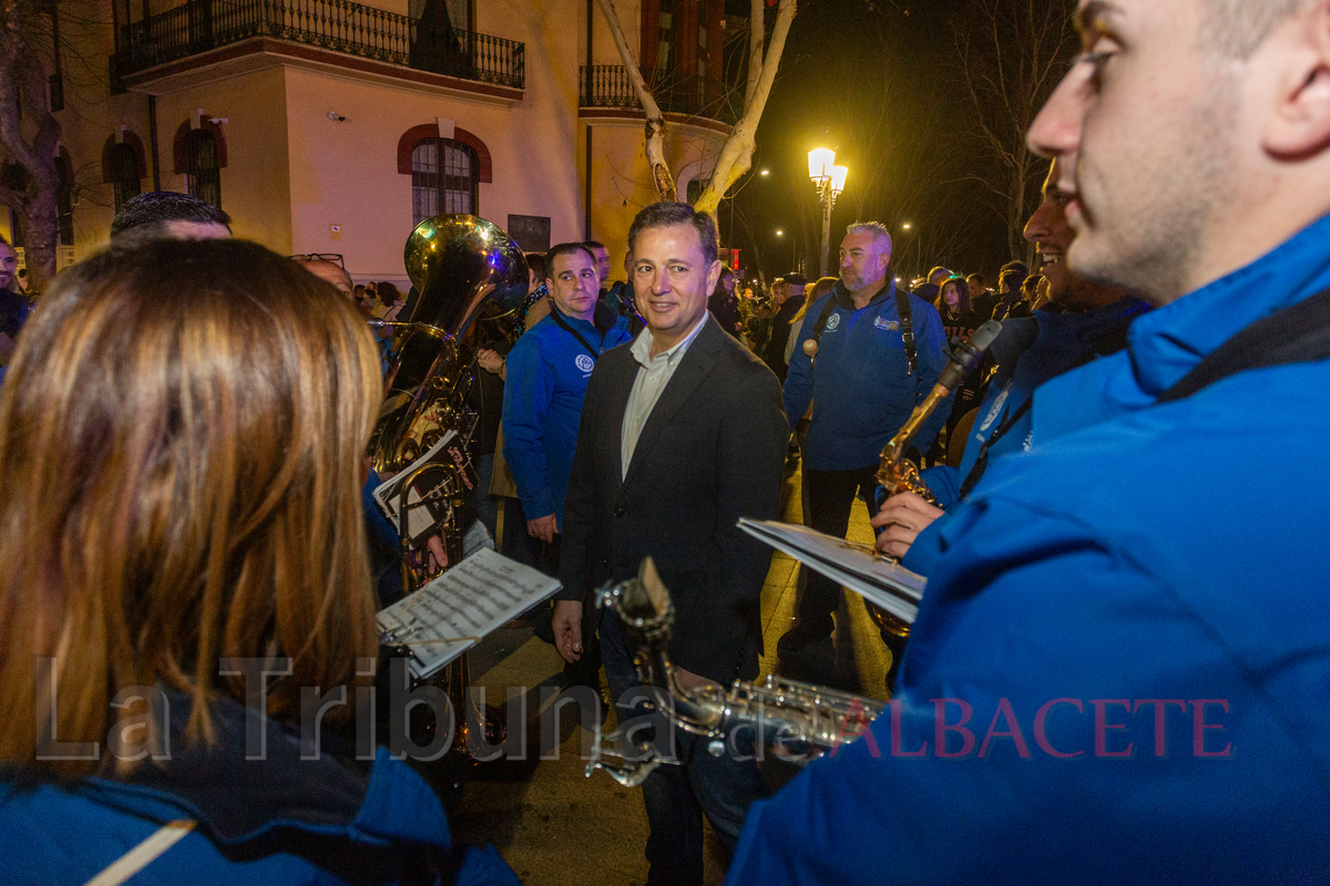
<instances>
[{"instance_id":1,"label":"dark-haired man in blue jacket between tuba and suited man","mask_svg":"<svg viewBox=\"0 0 1330 886\"><path fill-rule=\"evenodd\" d=\"M545 270L553 307L517 339L504 367L503 456L517 485L527 533L553 545L564 519L587 381L600 355L630 335L628 320L598 303L596 256L584 244L549 250Z\"/></svg>"}]
</instances>

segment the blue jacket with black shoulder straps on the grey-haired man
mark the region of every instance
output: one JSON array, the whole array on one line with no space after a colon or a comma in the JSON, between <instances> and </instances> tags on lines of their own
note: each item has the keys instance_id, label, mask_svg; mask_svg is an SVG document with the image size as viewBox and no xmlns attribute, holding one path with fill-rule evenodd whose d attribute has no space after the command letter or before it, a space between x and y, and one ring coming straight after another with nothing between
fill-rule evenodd
<instances>
[{"instance_id":1,"label":"blue jacket with black shoulder straps on the grey-haired man","mask_svg":"<svg viewBox=\"0 0 1330 886\"><path fill-rule=\"evenodd\" d=\"M947 335L938 308L910 296L910 316L918 361L908 371L900 316L896 311L896 284L887 284L868 304L854 308L843 283L811 306L803 315L798 341L785 377L785 414L793 428L813 402L805 468L811 470L858 470L878 464L882 448L895 434L947 365ZM803 353L803 341L813 337L827 299L837 307L827 316L818 359ZM928 449L947 422L951 397L934 410L915 434L912 445Z\"/></svg>"}]
</instances>

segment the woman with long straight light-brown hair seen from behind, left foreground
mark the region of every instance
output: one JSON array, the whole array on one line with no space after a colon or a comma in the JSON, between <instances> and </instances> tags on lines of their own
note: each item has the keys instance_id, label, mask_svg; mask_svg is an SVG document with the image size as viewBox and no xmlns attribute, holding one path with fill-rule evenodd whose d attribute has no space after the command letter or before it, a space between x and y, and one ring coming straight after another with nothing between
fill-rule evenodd
<instances>
[{"instance_id":1,"label":"woman with long straight light-brown hair seen from behind, left foreground","mask_svg":"<svg viewBox=\"0 0 1330 886\"><path fill-rule=\"evenodd\" d=\"M495 866L352 723L380 397L355 306L261 246L112 246L55 282L0 388L0 881Z\"/></svg>"}]
</instances>

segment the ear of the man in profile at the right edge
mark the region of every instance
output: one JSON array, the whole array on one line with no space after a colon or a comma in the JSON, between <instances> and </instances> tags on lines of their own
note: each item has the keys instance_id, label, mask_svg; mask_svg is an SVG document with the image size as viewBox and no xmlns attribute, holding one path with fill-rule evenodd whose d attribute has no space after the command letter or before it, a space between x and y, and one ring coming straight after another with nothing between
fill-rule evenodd
<instances>
[{"instance_id":1,"label":"ear of the man in profile at the right edge","mask_svg":"<svg viewBox=\"0 0 1330 886\"><path fill-rule=\"evenodd\" d=\"M1281 66L1262 147L1282 158L1311 157L1330 147L1330 0L1294 13L1257 56Z\"/></svg>"}]
</instances>

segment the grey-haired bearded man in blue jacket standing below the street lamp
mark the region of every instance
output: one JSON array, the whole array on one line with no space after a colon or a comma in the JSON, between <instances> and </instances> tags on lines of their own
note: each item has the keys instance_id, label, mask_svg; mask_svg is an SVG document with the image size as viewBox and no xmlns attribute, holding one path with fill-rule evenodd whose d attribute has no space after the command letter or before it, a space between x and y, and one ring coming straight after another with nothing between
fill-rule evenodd
<instances>
[{"instance_id":1,"label":"grey-haired bearded man in blue jacket standing below the street lamp","mask_svg":"<svg viewBox=\"0 0 1330 886\"><path fill-rule=\"evenodd\" d=\"M817 360L805 343L817 341ZM874 513L882 448L900 429L947 365L947 335L938 308L898 290L891 235L878 222L851 224L841 243L841 280L809 306L785 379L785 414L793 428L809 402L813 420L803 453L805 523L843 537L855 493ZM951 412L948 397L919 429L927 452ZM799 620L777 644L786 671L821 677L834 658L831 614L841 588L806 571Z\"/></svg>"}]
</instances>

